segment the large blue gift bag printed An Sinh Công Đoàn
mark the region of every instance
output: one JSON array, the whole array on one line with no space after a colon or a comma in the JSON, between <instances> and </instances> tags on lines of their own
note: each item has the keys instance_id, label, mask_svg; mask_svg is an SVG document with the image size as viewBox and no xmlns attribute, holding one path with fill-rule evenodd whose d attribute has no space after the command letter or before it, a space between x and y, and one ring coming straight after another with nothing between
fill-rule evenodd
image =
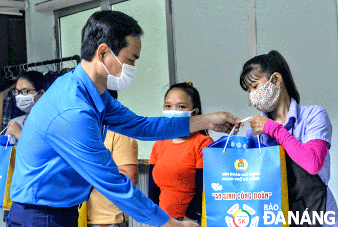
<instances>
[{"instance_id":1,"label":"large blue gift bag printed An Sinh C\u00f4ng \u0110o\u00e0n","mask_svg":"<svg viewBox=\"0 0 338 227\"><path fill-rule=\"evenodd\" d=\"M284 148L227 138L203 148L202 226L288 226Z\"/></svg>"}]
</instances>

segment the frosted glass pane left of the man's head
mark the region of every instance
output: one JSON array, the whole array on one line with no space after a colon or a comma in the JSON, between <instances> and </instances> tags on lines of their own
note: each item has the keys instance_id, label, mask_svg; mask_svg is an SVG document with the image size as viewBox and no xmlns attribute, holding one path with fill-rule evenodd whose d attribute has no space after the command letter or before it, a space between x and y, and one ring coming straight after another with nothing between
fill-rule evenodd
<instances>
[{"instance_id":1,"label":"frosted glass pane left of the man's head","mask_svg":"<svg viewBox=\"0 0 338 227\"><path fill-rule=\"evenodd\" d=\"M74 13L60 17L60 47L61 57L80 55L81 31L88 21L88 18L101 7ZM64 63L67 67L73 68L72 62Z\"/></svg>"}]
</instances>

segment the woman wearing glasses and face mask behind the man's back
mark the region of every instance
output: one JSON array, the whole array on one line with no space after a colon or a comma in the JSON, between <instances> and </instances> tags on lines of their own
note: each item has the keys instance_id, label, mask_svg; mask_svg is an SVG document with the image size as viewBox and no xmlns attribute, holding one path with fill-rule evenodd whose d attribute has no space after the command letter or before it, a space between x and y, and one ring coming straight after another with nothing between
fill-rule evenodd
<instances>
[{"instance_id":1,"label":"woman wearing glasses and face mask behind the man's back","mask_svg":"<svg viewBox=\"0 0 338 227\"><path fill-rule=\"evenodd\" d=\"M45 86L46 78L41 72L27 71L20 75L12 92L15 96L16 106L26 114L14 118L8 123L5 135L10 135L10 143L17 143L29 112L37 100L45 93Z\"/></svg>"}]
</instances>

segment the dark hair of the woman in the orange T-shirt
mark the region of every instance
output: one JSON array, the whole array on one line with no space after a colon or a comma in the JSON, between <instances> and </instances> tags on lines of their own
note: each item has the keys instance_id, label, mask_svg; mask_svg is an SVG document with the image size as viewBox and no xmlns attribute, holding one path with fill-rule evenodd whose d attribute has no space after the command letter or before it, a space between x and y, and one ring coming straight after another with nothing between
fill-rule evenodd
<instances>
[{"instance_id":1,"label":"dark hair of the woman in the orange T-shirt","mask_svg":"<svg viewBox=\"0 0 338 227\"><path fill-rule=\"evenodd\" d=\"M184 82L184 83L178 83L178 84L174 84L172 85L165 93L164 96L164 100L166 95L168 94L169 91L171 91L172 89L180 89L182 91L184 91L189 97L192 98L192 102L193 102L193 109L198 108L199 112L197 113L197 115L201 115L202 114L202 106L201 106L201 98L200 98L200 94L198 93L198 90L193 87L193 83L192 82ZM209 133L207 130L200 130L199 131L202 135L204 136L208 136Z\"/></svg>"}]
</instances>

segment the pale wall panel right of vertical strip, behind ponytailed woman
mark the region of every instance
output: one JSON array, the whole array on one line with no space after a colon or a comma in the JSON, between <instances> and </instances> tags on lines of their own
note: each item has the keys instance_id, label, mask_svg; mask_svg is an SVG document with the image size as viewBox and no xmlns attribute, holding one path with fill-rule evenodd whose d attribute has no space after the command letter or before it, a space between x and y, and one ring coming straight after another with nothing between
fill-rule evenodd
<instances>
[{"instance_id":1,"label":"pale wall panel right of vertical strip, behind ponytailed woman","mask_svg":"<svg viewBox=\"0 0 338 227\"><path fill-rule=\"evenodd\" d=\"M338 202L338 72L336 1L258 1L258 52L280 50L290 65L301 104L323 106L333 132L329 187ZM271 10L274 9L274 10Z\"/></svg>"}]
</instances>

